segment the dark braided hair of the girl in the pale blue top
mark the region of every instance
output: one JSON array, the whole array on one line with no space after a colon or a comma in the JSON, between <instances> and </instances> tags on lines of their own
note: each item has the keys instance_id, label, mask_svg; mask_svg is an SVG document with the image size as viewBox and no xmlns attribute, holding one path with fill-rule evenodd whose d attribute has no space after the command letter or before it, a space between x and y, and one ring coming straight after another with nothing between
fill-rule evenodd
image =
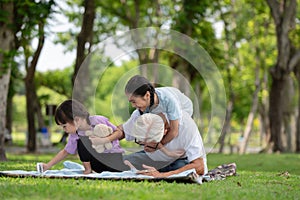
<instances>
[{"instance_id":1,"label":"dark braided hair of the girl in the pale blue top","mask_svg":"<svg viewBox=\"0 0 300 200\"><path fill-rule=\"evenodd\" d=\"M155 89L148 79L140 75L135 75L125 86L125 93L133 96L145 96L147 91L150 92L150 108L154 104Z\"/></svg>"}]
</instances>

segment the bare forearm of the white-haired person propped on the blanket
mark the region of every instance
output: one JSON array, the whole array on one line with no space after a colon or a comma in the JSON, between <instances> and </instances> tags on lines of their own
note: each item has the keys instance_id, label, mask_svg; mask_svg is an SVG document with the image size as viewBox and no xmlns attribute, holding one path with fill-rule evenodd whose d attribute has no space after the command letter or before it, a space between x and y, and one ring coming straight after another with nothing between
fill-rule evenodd
<instances>
[{"instance_id":1,"label":"bare forearm of the white-haired person propped on the blanket","mask_svg":"<svg viewBox=\"0 0 300 200\"><path fill-rule=\"evenodd\" d=\"M197 159L191 161L189 164L187 164L187 165L185 165L185 166L183 166L179 169L169 171L169 172L163 172L163 173L160 173L154 167L151 167L151 166L143 165L143 167L146 169L146 171L143 170L142 174L157 177L157 178L159 178L159 177L168 177L168 176L171 176L173 174L179 174L179 173L184 172L184 171L189 170L189 169L195 169L196 173L199 174L199 175L204 174L204 161L203 161L203 158L197 158Z\"/></svg>"}]
</instances>

